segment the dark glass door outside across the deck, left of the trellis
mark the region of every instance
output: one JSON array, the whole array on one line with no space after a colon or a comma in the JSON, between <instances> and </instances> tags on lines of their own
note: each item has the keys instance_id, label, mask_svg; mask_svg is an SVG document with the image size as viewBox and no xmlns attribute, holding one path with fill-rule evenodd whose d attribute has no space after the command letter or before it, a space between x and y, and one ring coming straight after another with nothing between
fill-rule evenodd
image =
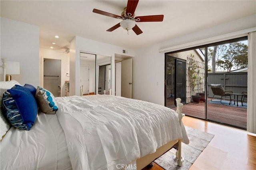
<instances>
[{"instance_id":1,"label":"dark glass door outside across the deck, left of the trellis","mask_svg":"<svg viewBox=\"0 0 256 170\"><path fill-rule=\"evenodd\" d=\"M165 58L165 106L174 107L176 98L186 103L186 60Z\"/></svg>"}]
</instances>

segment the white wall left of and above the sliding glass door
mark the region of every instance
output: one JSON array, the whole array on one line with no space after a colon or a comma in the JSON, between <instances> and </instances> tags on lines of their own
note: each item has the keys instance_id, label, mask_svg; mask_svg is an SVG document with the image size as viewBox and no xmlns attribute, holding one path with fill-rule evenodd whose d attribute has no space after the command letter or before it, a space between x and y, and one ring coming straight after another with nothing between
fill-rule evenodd
<instances>
[{"instance_id":1,"label":"white wall left of and above the sliding glass door","mask_svg":"<svg viewBox=\"0 0 256 170\"><path fill-rule=\"evenodd\" d=\"M134 57L132 96L164 105L164 52L246 36L256 27L256 15L139 49ZM160 49L166 49L162 53Z\"/></svg>"}]
</instances>

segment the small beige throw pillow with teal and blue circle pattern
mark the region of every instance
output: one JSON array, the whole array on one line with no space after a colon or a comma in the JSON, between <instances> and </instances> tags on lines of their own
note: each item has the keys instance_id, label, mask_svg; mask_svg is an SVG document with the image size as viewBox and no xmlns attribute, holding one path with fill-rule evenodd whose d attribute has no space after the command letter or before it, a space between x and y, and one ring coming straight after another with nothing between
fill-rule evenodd
<instances>
[{"instance_id":1,"label":"small beige throw pillow with teal and blue circle pattern","mask_svg":"<svg viewBox=\"0 0 256 170\"><path fill-rule=\"evenodd\" d=\"M46 114L55 114L58 110L54 95L40 86L36 89L36 100L38 101L41 111Z\"/></svg>"}]
</instances>

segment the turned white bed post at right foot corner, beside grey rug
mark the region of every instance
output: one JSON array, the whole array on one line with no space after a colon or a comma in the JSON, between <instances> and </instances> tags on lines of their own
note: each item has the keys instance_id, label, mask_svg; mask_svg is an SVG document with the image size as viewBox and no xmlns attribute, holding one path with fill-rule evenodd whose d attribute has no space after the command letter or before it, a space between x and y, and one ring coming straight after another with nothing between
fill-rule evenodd
<instances>
[{"instance_id":1,"label":"turned white bed post at right foot corner, beside grey rug","mask_svg":"<svg viewBox=\"0 0 256 170\"><path fill-rule=\"evenodd\" d=\"M183 104L180 103L180 101L181 101L180 98L176 99L176 103L177 103L176 112L178 113L178 119L179 119L180 127L182 128L182 117L185 116L185 115L182 114ZM178 158L178 160L177 160L178 166L182 166L182 162L184 161L184 158L181 156L181 141L182 141L182 139L180 139L178 141L178 150L176 151L176 157Z\"/></svg>"}]
</instances>

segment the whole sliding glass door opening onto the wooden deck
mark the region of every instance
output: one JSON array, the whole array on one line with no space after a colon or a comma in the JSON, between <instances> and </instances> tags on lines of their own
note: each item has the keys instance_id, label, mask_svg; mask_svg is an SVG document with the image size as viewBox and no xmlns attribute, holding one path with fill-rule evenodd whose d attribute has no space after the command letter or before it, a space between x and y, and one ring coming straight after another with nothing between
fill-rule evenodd
<instances>
[{"instance_id":1,"label":"whole sliding glass door opening onto the wooden deck","mask_svg":"<svg viewBox=\"0 0 256 170\"><path fill-rule=\"evenodd\" d=\"M247 51L242 37L166 53L166 106L179 97L187 116L246 129Z\"/></svg>"}]
</instances>

